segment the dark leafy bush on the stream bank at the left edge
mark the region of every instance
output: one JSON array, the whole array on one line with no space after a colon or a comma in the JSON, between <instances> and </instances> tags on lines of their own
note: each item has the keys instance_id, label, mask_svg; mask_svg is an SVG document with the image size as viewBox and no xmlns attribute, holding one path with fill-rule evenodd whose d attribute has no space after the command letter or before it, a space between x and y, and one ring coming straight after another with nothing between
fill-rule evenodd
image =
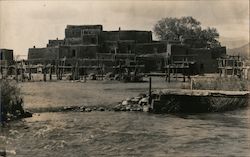
<instances>
[{"instance_id":1,"label":"dark leafy bush on the stream bank at the left edge","mask_svg":"<svg viewBox=\"0 0 250 157\"><path fill-rule=\"evenodd\" d=\"M7 80L0 81L1 86L1 121L24 117L23 99L17 84Z\"/></svg>"}]
</instances>

